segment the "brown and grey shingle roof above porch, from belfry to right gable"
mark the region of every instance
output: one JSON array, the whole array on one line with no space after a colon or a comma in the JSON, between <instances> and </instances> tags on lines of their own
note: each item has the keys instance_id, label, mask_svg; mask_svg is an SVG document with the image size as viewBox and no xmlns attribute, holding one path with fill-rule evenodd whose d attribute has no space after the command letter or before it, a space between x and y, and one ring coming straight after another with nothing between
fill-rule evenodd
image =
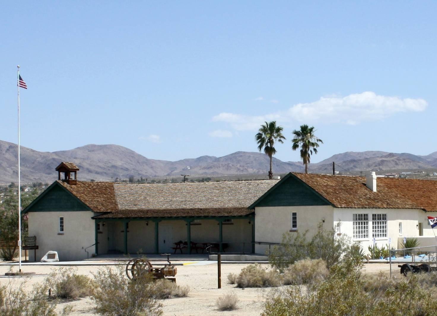
<instances>
[{"instance_id":1,"label":"brown and grey shingle roof above porch, from belfry to right gable","mask_svg":"<svg viewBox=\"0 0 437 316\"><path fill-rule=\"evenodd\" d=\"M58 181L99 217L240 216L279 180L186 183Z\"/></svg>"}]
</instances>

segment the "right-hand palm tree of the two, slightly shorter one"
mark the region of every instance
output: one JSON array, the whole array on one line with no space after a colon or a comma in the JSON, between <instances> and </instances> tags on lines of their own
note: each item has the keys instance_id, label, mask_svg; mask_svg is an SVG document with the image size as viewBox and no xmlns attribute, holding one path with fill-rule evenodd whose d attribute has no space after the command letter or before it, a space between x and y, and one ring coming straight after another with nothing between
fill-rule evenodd
<instances>
[{"instance_id":1,"label":"right-hand palm tree of the two, slightly shorter one","mask_svg":"<svg viewBox=\"0 0 437 316\"><path fill-rule=\"evenodd\" d=\"M291 140L293 142L293 150L301 147L301 158L303 164L305 165L305 173L308 173L308 164L312 153L317 153L317 147L319 143L323 144L322 139L317 138L314 135L314 126L308 127L308 125L301 125L301 129L293 131L294 138Z\"/></svg>"}]
</instances>

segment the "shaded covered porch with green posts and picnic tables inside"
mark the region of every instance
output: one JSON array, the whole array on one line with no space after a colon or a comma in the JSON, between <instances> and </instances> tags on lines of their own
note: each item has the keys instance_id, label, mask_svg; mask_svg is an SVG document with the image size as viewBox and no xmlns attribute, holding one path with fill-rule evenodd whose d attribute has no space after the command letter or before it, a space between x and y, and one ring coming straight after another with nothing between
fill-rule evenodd
<instances>
[{"instance_id":1,"label":"shaded covered porch with green posts and picnic tables inside","mask_svg":"<svg viewBox=\"0 0 437 316\"><path fill-rule=\"evenodd\" d=\"M95 216L95 254L254 253L254 214L195 217Z\"/></svg>"}]
</instances>

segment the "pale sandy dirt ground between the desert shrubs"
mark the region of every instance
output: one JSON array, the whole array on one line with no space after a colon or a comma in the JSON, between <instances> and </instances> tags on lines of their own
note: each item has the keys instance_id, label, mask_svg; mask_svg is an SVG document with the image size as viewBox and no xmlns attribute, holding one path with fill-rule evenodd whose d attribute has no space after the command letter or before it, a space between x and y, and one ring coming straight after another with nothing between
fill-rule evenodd
<instances>
[{"instance_id":1,"label":"pale sandy dirt ground between the desert shrubs","mask_svg":"<svg viewBox=\"0 0 437 316\"><path fill-rule=\"evenodd\" d=\"M217 265L179 265L177 266L177 284L188 285L190 292L187 297L162 300L163 314L166 316L188 316L188 315L260 315L265 297L271 289L238 289L235 285L227 284L227 275L229 273L238 274L247 264L222 264L222 289L217 289ZM267 266L267 265L264 265ZM18 284L23 278L7 278L4 277L5 272L9 271L9 265L0 265L0 284L14 282ZM395 268L396 267L396 268ZM45 275L49 274L58 266L28 266L23 265L22 271L35 272L38 275L27 279L25 288L31 289L36 282L42 282ZM17 271L17 266L14 266L14 271ZM78 273L92 276L92 272L96 272L99 266L77 266ZM397 265L393 265L394 273L399 273ZM366 274L375 274L380 271L389 273L390 265L386 263L372 263L364 265L363 272ZM223 294L232 293L239 299L237 304L238 309L234 311L220 311L216 307L216 300ZM80 299L73 302L60 303L57 306L58 312L66 304L71 304L74 312L71 315L90 316L94 313L94 302L90 298Z\"/></svg>"}]
</instances>

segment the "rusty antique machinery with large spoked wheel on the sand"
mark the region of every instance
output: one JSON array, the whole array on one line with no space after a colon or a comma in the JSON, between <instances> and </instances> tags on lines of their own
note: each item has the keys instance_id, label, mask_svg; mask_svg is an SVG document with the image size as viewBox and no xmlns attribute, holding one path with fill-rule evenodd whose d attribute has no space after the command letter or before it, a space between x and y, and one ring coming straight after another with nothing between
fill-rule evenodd
<instances>
[{"instance_id":1,"label":"rusty antique machinery with large spoked wheel on the sand","mask_svg":"<svg viewBox=\"0 0 437 316\"><path fill-rule=\"evenodd\" d=\"M154 268L150 261L143 258L133 258L126 265L126 275L129 280L135 280L142 273L151 274L153 279L167 279L176 282L174 276L177 274L177 268L170 262L170 254L161 254L167 256L168 264L162 268Z\"/></svg>"}]
</instances>

